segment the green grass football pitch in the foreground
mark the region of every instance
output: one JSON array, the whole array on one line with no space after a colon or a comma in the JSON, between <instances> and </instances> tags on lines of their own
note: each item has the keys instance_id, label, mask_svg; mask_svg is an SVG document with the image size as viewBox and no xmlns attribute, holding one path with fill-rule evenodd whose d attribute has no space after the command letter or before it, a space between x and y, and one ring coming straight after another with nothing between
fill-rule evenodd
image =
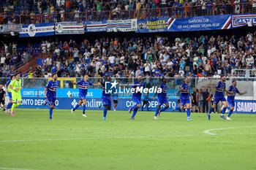
<instances>
[{"instance_id":1,"label":"green grass football pitch in the foreground","mask_svg":"<svg viewBox=\"0 0 256 170\"><path fill-rule=\"evenodd\" d=\"M0 112L0 169L256 169L256 115L16 109ZM233 128L239 127L239 128ZM205 134L203 131L211 134ZM215 134L215 135L212 135Z\"/></svg>"}]
</instances>

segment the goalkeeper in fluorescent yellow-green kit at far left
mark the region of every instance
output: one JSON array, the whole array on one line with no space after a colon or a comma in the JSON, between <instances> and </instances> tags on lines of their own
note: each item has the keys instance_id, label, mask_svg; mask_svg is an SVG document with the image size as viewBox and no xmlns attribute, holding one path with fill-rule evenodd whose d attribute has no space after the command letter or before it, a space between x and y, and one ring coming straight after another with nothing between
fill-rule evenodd
<instances>
[{"instance_id":1,"label":"goalkeeper in fluorescent yellow-green kit at far left","mask_svg":"<svg viewBox=\"0 0 256 170\"><path fill-rule=\"evenodd\" d=\"M21 88L21 80L20 80L20 74L15 74L15 80L12 80L10 82L10 89L12 89L12 109L11 109L11 116L13 115L13 109L15 107L20 106L21 104L21 94L20 90Z\"/></svg>"}]
</instances>

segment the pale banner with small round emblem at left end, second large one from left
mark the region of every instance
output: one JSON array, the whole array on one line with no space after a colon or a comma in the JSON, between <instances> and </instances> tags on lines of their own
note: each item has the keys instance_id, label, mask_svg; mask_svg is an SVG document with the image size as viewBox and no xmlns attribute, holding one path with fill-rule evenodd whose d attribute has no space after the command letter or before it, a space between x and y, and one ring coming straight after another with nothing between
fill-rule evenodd
<instances>
[{"instance_id":1,"label":"pale banner with small round emblem at left end, second large one from left","mask_svg":"<svg viewBox=\"0 0 256 170\"><path fill-rule=\"evenodd\" d=\"M56 34L84 34L83 23L62 22L56 23Z\"/></svg>"}]
</instances>

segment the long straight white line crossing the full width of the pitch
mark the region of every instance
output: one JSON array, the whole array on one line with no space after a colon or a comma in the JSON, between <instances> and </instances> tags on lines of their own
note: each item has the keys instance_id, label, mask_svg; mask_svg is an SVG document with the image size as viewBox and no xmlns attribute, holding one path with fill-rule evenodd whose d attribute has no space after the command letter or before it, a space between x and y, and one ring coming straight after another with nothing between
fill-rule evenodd
<instances>
[{"instance_id":1,"label":"long straight white line crossing the full width of the pitch","mask_svg":"<svg viewBox=\"0 0 256 170\"><path fill-rule=\"evenodd\" d=\"M211 129L210 129L211 130ZM211 134L211 133L210 133ZM237 133L237 134L214 134L214 135L244 135L256 133ZM71 141L71 140L94 140L94 139L140 139L140 138L164 138L164 137L182 137L182 136L208 136L209 134L177 134L177 135L165 135L165 136L106 136L106 137L91 137L91 138L75 138L75 139L34 139L34 140L9 140L0 141L4 142L47 142L47 141Z\"/></svg>"}]
</instances>

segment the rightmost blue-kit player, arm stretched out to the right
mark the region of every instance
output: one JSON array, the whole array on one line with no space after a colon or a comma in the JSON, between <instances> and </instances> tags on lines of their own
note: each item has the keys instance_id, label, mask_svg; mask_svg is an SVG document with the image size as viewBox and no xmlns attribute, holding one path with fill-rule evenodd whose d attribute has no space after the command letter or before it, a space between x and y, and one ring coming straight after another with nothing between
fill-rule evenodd
<instances>
[{"instance_id":1,"label":"rightmost blue-kit player, arm stretched out to the right","mask_svg":"<svg viewBox=\"0 0 256 170\"><path fill-rule=\"evenodd\" d=\"M227 104L228 104L228 107L230 109L230 112L228 113L226 120L231 120L230 119L230 115L232 115L233 109L235 107L235 96L236 96L236 93L238 93L239 95L244 95L247 92L245 91L244 93L240 93L240 91L236 88L236 80L232 81L232 85L230 85L228 90L230 92L233 92L233 94L227 94Z\"/></svg>"}]
</instances>

